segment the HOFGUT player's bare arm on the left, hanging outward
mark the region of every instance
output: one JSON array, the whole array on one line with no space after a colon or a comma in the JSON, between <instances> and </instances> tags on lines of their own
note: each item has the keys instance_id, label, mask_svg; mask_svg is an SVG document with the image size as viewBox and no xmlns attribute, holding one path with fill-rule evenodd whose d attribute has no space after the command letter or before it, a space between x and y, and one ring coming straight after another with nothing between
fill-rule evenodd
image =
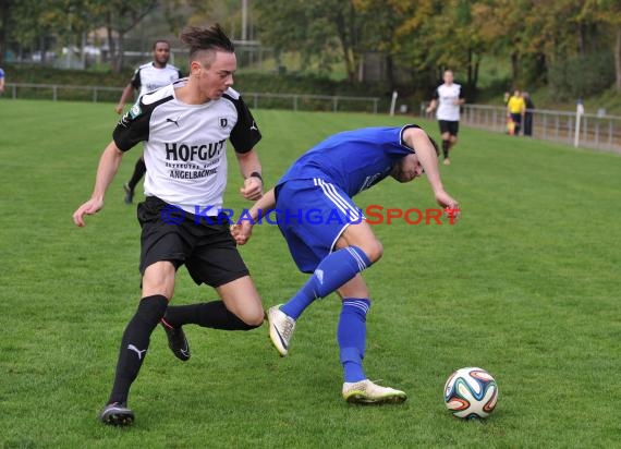
<instances>
[{"instance_id":1,"label":"HOFGUT player's bare arm on the left, hanging outward","mask_svg":"<svg viewBox=\"0 0 621 449\"><path fill-rule=\"evenodd\" d=\"M84 216L97 214L104 207L104 196L106 195L108 186L114 179L114 174L121 165L123 151L119 149L113 141L110 142L99 158L95 187L93 189L90 199L73 213L73 222L76 226L81 228L85 226Z\"/></svg>"}]
</instances>

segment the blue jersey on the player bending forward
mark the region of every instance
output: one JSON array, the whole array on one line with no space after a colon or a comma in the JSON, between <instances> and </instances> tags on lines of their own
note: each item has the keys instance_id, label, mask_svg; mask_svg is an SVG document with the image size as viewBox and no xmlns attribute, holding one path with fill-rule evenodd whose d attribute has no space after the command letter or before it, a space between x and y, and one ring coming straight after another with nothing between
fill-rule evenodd
<instances>
[{"instance_id":1,"label":"blue jersey on the player bending forward","mask_svg":"<svg viewBox=\"0 0 621 449\"><path fill-rule=\"evenodd\" d=\"M328 137L300 157L278 181L321 178L350 197L388 177L394 162L414 153L403 142L403 131L417 128L365 128Z\"/></svg>"}]
</instances>

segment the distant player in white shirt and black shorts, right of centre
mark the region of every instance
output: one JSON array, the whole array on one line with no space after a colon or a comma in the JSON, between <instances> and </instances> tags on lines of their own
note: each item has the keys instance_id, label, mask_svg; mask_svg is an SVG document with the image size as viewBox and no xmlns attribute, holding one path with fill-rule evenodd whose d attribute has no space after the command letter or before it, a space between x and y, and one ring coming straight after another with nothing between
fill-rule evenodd
<instances>
[{"instance_id":1,"label":"distant player in white shirt and black shorts, right of centre","mask_svg":"<svg viewBox=\"0 0 621 449\"><path fill-rule=\"evenodd\" d=\"M453 72L445 71L443 84L434 92L434 98L427 108L427 113L438 109L436 117L440 125L442 136L442 154L445 166L451 165L449 153L458 143L460 131L460 107L465 102L462 86L453 83ZM438 155L439 156L439 155Z\"/></svg>"}]
</instances>

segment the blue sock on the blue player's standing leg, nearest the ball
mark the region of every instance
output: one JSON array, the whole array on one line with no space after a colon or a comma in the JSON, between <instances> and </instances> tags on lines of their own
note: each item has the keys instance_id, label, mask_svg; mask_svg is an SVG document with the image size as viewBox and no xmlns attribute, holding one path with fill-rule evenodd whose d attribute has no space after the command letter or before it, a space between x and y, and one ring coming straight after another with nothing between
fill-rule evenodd
<instances>
[{"instance_id":1,"label":"blue sock on the blue player's standing leg, nearest the ball","mask_svg":"<svg viewBox=\"0 0 621 449\"><path fill-rule=\"evenodd\" d=\"M343 300L337 341L341 350L341 364L345 381L366 379L362 367L366 347L366 314L370 307L367 299L346 298Z\"/></svg>"}]
</instances>

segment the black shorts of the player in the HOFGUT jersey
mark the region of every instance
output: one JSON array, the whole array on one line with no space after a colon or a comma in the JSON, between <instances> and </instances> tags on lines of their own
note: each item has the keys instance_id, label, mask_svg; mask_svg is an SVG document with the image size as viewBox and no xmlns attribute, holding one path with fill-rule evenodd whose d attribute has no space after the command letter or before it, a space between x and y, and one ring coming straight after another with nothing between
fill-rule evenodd
<instances>
[{"instance_id":1,"label":"black shorts of the player in the HOFGUT jersey","mask_svg":"<svg viewBox=\"0 0 621 449\"><path fill-rule=\"evenodd\" d=\"M156 262L170 260L175 269L185 264L194 282L214 288L248 276L248 269L238 252L226 216L212 220L184 214L178 223L171 222L165 208L170 205L158 197L147 196L138 204L141 235L141 274ZM163 217L163 219L162 219ZM166 221L165 221L166 219Z\"/></svg>"}]
</instances>

